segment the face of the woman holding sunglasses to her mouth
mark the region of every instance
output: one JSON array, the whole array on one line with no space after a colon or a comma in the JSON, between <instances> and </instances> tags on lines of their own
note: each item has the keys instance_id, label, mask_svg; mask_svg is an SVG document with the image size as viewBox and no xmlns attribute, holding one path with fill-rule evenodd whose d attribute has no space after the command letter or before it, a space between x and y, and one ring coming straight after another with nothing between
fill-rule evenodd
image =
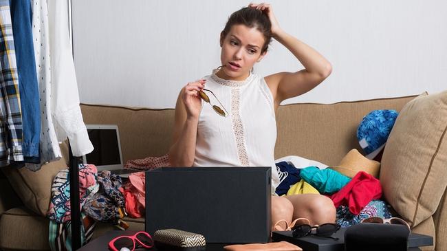
<instances>
[{"instance_id":1,"label":"face of the woman holding sunglasses to her mouth","mask_svg":"<svg viewBox=\"0 0 447 251\"><path fill-rule=\"evenodd\" d=\"M265 53L261 48L264 36L257 28L246 25L233 25L230 32L221 40L221 63L224 65L218 76L228 80L245 80L254 63L260 61Z\"/></svg>"}]
</instances>

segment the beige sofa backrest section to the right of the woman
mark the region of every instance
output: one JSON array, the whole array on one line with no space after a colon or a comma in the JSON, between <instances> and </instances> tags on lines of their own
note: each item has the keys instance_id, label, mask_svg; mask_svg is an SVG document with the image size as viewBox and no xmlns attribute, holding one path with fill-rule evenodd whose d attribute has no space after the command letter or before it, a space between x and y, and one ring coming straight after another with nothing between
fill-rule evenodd
<instances>
[{"instance_id":1,"label":"beige sofa backrest section to the right of the woman","mask_svg":"<svg viewBox=\"0 0 447 251\"><path fill-rule=\"evenodd\" d=\"M334 104L281 105L276 111L278 136L275 158L298 155L328 165L339 164L351 149L358 149L358 125L370 111L400 111L416 96L379 98Z\"/></svg>"}]
</instances>

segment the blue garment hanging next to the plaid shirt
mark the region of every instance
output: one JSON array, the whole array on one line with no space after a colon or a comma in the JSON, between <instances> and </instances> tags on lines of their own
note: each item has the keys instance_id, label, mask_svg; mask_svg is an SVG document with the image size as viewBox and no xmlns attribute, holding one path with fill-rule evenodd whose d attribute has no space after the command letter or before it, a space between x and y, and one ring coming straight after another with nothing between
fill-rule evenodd
<instances>
[{"instance_id":1,"label":"blue garment hanging next to the plaid shirt","mask_svg":"<svg viewBox=\"0 0 447 251\"><path fill-rule=\"evenodd\" d=\"M32 42L31 2L10 0L10 7L23 120L23 157L25 162L40 163L41 109Z\"/></svg>"}]
</instances>

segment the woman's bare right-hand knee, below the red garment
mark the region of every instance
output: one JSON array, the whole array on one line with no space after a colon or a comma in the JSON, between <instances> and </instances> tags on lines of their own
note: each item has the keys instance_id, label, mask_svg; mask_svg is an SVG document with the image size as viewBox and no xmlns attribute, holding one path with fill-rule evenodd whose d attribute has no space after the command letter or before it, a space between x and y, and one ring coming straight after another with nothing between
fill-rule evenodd
<instances>
[{"instance_id":1,"label":"woman's bare right-hand knee, below the red garment","mask_svg":"<svg viewBox=\"0 0 447 251\"><path fill-rule=\"evenodd\" d=\"M336 208L328 197L315 194L288 195L285 196L294 208L293 219L307 218L311 225L334 223Z\"/></svg>"}]
</instances>

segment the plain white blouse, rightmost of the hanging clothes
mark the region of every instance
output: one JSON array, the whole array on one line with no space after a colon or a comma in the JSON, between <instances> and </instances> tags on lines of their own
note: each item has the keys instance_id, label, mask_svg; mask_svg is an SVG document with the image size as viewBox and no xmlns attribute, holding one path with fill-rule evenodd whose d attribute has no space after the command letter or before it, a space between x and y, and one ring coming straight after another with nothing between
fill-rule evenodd
<instances>
[{"instance_id":1,"label":"plain white blouse, rightmost of the hanging clothes","mask_svg":"<svg viewBox=\"0 0 447 251\"><path fill-rule=\"evenodd\" d=\"M51 56L52 116L61 142L67 137L74 156L93 151L79 107L78 83L69 36L68 1L47 0Z\"/></svg>"}]
</instances>

